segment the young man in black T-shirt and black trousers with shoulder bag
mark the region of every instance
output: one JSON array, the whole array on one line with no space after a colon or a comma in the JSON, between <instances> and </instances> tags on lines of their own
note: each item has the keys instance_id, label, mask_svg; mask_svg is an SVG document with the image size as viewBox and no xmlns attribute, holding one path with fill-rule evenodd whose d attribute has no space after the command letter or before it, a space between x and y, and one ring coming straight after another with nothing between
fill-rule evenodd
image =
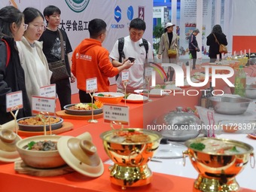
<instances>
[{"instance_id":1,"label":"young man in black T-shirt and black trousers with shoulder bag","mask_svg":"<svg viewBox=\"0 0 256 192\"><path fill-rule=\"evenodd\" d=\"M47 22L47 29L39 41L43 41L43 51L48 62L56 62L61 60L61 41L58 32L58 26L60 23L61 11L54 5L49 5L44 8L44 18ZM51 80L52 84L56 84L56 93L59 97L60 107L63 110L65 105L71 104L71 85L70 82L75 82L75 76L70 72L71 69L71 52L72 47L69 42L68 35L62 29L59 29L63 37L63 45L65 50L65 62L66 69L70 76L58 81Z\"/></svg>"}]
</instances>

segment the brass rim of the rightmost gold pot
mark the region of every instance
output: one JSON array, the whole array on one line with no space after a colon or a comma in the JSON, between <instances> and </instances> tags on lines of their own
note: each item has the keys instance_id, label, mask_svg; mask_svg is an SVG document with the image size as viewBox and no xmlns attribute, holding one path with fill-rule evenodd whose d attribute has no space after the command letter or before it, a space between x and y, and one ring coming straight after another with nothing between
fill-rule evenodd
<instances>
[{"instance_id":1,"label":"brass rim of the rightmost gold pot","mask_svg":"<svg viewBox=\"0 0 256 192\"><path fill-rule=\"evenodd\" d=\"M222 142L232 143L236 146L239 146L240 148L244 148L246 151L237 153L237 154L217 154L217 153L212 153L212 152L204 152L204 151L200 151L200 150L189 147L192 142L202 142L203 140L206 140L206 139L214 139L214 140L218 140L218 141L222 141ZM197 152L200 152L203 154L212 154L212 155L216 155L216 156L233 156L233 155L239 155L239 154L250 154L252 151L254 151L254 148L251 145L248 145L245 142L239 142L239 141L236 141L233 139L221 139L221 138L209 138L209 137L200 137L199 138L198 137L198 138L187 140L187 142L185 142L184 145L186 145L187 148L192 151L197 151Z\"/></svg>"}]
</instances>

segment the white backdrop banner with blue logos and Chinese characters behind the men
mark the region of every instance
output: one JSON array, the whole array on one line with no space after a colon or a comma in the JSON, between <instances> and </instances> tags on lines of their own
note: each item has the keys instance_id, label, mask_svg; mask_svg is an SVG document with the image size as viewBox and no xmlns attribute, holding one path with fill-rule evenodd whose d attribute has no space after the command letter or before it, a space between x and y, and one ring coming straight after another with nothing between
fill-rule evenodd
<instances>
[{"instance_id":1,"label":"white backdrop banner with blue logos and Chinese characters behind the men","mask_svg":"<svg viewBox=\"0 0 256 192\"><path fill-rule=\"evenodd\" d=\"M147 29L144 38L152 42L153 0L1 0L0 8L14 5L23 11L27 7L38 8L43 13L48 5L61 11L60 28L65 29L73 50L84 38L89 38L88 23L99 18L107 23L107 38L103 47L111 51L117 38L129 35L130 21L136 17L145 20Z\"/></svg>"}]
</instances>

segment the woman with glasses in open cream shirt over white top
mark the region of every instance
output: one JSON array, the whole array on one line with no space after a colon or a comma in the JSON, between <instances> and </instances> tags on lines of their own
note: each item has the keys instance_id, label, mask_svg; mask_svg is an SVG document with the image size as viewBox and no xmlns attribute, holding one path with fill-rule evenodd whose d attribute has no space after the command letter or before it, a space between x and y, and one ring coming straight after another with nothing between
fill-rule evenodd
<instances>
[{"instance_id":1,"label":"woman with glasses in open cream shirt over white top","mask_svg":"<svg viewBox=\"0 0 256 192\"><path fill-rule=\"evenodd\" d=\"M32 96L40 95L40 87L50 84L52 72L44 56L43 43L38 41L45 30L44 16L36 8L26 8L23 14L28 27L21 41L17 42L17 47L25 72L26 92L32 104Z\"/></svg>"}]
</instances>

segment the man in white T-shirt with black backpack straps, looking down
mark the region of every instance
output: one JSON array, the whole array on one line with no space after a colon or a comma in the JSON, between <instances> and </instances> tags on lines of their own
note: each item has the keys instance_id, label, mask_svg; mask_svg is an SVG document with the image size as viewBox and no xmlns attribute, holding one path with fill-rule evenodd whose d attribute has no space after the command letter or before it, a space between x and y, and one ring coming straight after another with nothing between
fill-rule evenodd
<instances>
[{"instance_id":1,"label":"man in white T-shirt with black backpack straps, looking down","mask_svg":"<svg viewBox=\"0 0 256 192\"><path fill-rule=\"evenodd\" d=\"M148 59L153 60L151 44L148 42L148 50L146 50L145 44L142 41L142 36L144 35L145 29L145 21L136 18L130 23L130 35L124 38L123 62L125 62L129 57L133 57L135 59L134 65L128 69L129 82L126 85L127 93L133 93L134 90L145 88L145 63L148 62ZM115 42L109 56L112 59L113 66L117 67L123 65L123 62L119 62L120 56L118 52L118 40ZM119 75L117 78L117 91L124 92L124 86L121 78L121 75Z\"/></svg>"}]
</instances>

